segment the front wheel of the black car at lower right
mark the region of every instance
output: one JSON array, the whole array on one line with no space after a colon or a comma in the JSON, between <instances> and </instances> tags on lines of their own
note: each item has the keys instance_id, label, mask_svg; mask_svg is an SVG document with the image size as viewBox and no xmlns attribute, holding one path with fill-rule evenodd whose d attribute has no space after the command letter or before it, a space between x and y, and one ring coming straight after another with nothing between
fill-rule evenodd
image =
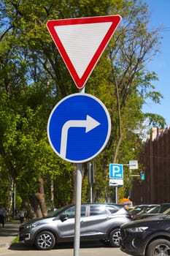
<instances>
[{"instance_id":1,"label":"front wheel of the black car at lower right","mask_svg":"<svg viewBox=\"0 0 170 256\"><path fill-rule=\"evenodd\" d=\"M166 239L152 241L148 246L146 255L170 255L170 241Z\"/></svg>"}]
</instances>

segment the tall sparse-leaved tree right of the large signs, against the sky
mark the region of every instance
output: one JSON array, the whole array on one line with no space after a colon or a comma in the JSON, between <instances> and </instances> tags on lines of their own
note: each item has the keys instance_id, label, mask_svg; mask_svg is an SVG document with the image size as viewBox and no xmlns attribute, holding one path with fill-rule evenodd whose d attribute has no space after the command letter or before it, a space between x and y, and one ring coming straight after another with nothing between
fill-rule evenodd
<instances>
[{"instance_id":1,"label":"tall sparse-leaved tree right of the large signs, against the sky","mask_svg":"<svg viewBox=\"0 0 170 256\"><path fill-rule=\"evenodd\" d=\"M147 99L160 103L162 98L152 85L152 80L158 80L155 72L145 69L147 62L158 52L159 30L147 29L146 4L140 1L128 3L123 6L122 23L93 72L95 78L90 78L90 91L104 101L112 117L112 135L104 154L98 157L98 172L103 170L106 186L109 162L128 163L129 159L138 159L146 118L150 125L166 125L161 116L142 113L142 105ZM102 62L104 57L105 62ZM134 151L134 148L138 150ZM129 172L127 176L130 176Z\"/></svg>"}]
</instances>

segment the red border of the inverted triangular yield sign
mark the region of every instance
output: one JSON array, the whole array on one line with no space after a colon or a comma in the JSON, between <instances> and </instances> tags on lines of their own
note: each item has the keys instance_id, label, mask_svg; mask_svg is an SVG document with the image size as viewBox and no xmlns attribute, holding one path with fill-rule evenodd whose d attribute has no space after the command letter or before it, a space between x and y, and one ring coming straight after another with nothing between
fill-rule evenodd
<instances>
[{"instance_id":1,"label":"red border of the inverted triangular yield sign","mask_svg":"<svg viewBox=\"0 0 170 256\"><path fill-rule=\"evenodd\" d=\"M78 89L82 89L85 86L91 72L93 71L94 67L96 66L98 59L100 58L101 54L104 52L104 49L107 47L109 40L111 39L112 35L114 34L117 26L121 21L120 15L109 15L109 16L97 16L97 17L88 17L88 18L72 18L72 19L63 19L63 20L49 20L47 22L47 29L50 32L53 41L55 42L58 51L63 58L63 61L66 64L66 67L69 69L70 75L74 80ZM106 23L112 22L112 25L109 27L107 34L105 35L104 39L101 41L96 53L94 53L93 58L90 60L88 67L85 69L82 77L80 78L77 75L76 69L74 69L74 65L72 61L69 59L68 54L66 53L65 48L61 42L61 39L58 37L54 27L55 26L67 26L67 25L77 25L77 24L88 24L88 23Z\"/></svg>"}]
</instances>

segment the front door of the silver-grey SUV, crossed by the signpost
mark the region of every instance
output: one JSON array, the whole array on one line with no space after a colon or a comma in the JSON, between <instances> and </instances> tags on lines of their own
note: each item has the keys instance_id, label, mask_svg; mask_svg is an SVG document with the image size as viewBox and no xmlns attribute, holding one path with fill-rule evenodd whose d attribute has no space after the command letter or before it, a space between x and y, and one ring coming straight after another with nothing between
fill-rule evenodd
<instances>
[{"instance_id":1,"label":"front door of the silver-grey SUV, crossed by the signpost","mask_svg":"<svg viewBox=\"0 0 170 256\"><path fill-rule=\"evenodd\" d=\"M74 238L74 223L75 223L75 206L71 206L66 209L62 214L67 216L67 219L63 222L58 221L58 236L62 240L73 240ZM80 232L83 232L85 229L85 214L86 206L81 206L81 218L80 218Z\"/></svg>"}]
</instances>

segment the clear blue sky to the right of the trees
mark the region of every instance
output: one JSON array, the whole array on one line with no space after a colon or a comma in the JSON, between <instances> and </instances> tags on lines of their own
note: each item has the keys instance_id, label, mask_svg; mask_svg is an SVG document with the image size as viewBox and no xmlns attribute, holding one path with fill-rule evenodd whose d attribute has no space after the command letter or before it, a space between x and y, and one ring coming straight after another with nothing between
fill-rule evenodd
<instances>
[{"instance_id":1,"label":"clear blue sky to the right of the trees","mask_svg":"<svg viewBox=\"0 0 170 256\"><path fill-rule=\"evenodd\" d=\"M143 0L148 4L151 13L150 26L163 28L161 31L161 52L147 65L147 69L155 71L159 80L152 82L157 91L163 94L161 105L147 102L143 111L157 113L166 119L166 127L170 126L170 0Z\"/></svg>"}]
</instances>

